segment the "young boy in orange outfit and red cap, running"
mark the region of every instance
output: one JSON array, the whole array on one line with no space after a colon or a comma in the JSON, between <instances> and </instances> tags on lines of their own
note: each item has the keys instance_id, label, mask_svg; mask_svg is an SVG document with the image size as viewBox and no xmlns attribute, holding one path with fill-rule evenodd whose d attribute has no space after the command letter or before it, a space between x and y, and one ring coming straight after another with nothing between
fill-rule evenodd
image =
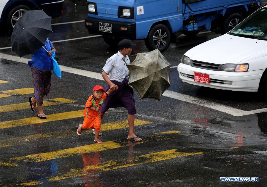
<instances>
[{"instance_id":1,"label":"young boy in orange outfit and red cap, running","mask_svg":"<svg viewBox=\"0 0 267 187\"><path fill-rule=\"evenodd\" d=\"M109 89L106 93L102 86L96 85L93 89L93 95L89 96L85 109L83 112L84 119L83 124L80 123L77 134L81 135L82 129L95 129L95 139L94 142L101 144L102 141L98 139L100 125L101 125L101 113L100 108L103 104L103 101L106 99L108 94L111 94L111 89Z\"/></svg>"}]
</instances>

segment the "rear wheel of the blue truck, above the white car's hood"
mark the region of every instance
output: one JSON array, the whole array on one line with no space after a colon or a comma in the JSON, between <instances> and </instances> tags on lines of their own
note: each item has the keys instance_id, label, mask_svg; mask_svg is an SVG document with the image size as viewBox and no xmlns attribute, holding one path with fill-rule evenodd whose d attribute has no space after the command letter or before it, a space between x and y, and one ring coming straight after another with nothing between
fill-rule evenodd
<instances>
[{"instance_id":1,"label":"rear wheel of the blue truck, above the white car's hood","mask_svg":"<svg viewBox=\"0 0 267 187\"><path fill-rule=\"evenodd\" d=\"M244 18L241 16L241 14L234 13L230 14L222 27L222 34L228 33L230 30L232 30L236 25L238 25L241 21L243 21Z\"/></svg>"}]
</instances>

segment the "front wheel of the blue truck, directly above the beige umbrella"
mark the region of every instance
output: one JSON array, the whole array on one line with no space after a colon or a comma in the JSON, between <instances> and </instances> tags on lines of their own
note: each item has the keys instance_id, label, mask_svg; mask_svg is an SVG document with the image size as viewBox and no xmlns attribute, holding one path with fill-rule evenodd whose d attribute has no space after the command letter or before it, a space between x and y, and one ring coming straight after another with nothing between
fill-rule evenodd
<instances>
[{"instance_id":1,"label":"front wheel of the blue truck, directly above the beige umbrella","mask_svg":"<svg viewBox=\"0 0 267 187\"><path fill-rule=\"evenodd\" d=\"M169 29L163 25L155 25L149 32L147 38L145 39L145 44L147 49L150 51L158 48L160 52L168 49L171 42L171 33Z\"/></svg>"}]
</instances>

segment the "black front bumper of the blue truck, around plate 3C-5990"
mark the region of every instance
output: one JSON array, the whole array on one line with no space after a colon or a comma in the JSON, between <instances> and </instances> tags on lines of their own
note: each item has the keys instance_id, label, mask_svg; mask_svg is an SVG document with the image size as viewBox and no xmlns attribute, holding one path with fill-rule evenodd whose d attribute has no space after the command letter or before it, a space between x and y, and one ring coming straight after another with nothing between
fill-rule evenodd
<instances>
[{"instance_id":1,"label":"black front bumper of the blue truck, around plate 3C-5990","mask_svg":"<svg viewBox=\"0 0 267 187\"><path fill-rule=\"evenodd\" d=\"M87 22L92 23L92 25L86 24ZM99 31L99 22L112 24L112 33ZM136 39L135 22L118 22L89 17L85 18L85 27L88 29L90 34L126 38L131 40ZM127 30L121 30L121 27L125 27Z\"/></svg>"}]
</instances>

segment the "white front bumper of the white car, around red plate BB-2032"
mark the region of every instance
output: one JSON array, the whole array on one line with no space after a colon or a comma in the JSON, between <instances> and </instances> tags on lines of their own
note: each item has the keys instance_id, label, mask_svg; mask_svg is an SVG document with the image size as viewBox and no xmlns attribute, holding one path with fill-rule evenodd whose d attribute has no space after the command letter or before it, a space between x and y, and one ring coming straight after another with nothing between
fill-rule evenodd
<instances>
[{"instance_id":1,"label":"white front bumper of the white car, around red plate BB-2032","mask_svg":"<svg viewBox=\"0 0 267 187\"><path fill-rule=\"evenodd\" d=\"M182 63L178 65L177 70L179 72L179 78L182 79L183 82L189 84L223 90L248 92L258 91L260 78L264 72L264 70L248 72L213 71L192 67ZM210 83L195 82L195 72L209 74Z\"/></svg>"}]
</instances>

